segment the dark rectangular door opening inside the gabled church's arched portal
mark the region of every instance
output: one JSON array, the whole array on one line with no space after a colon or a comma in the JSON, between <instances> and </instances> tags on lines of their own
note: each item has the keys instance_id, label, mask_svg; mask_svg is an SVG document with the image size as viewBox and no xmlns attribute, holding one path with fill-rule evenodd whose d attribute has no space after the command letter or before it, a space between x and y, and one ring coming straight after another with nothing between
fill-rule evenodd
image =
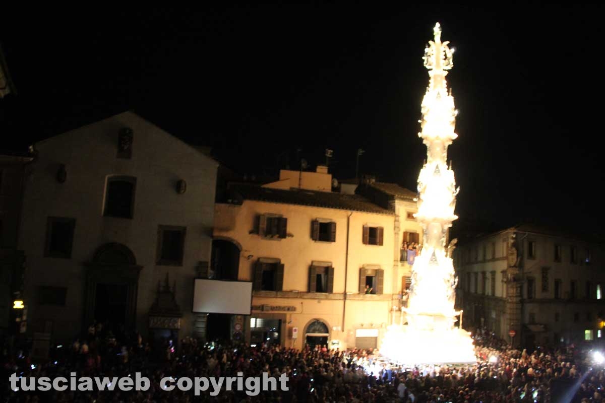
<instances>
[{"instance_id":1,"label":"dark rectangular door opening inside the gabled church's arched portal","mask_svg":"<svg viewBox=\"0 0 605 403\"><path fill-rule=\"evenodd\" d=\"M128 286L97 284L94 297L94 320L110 325L108 330L121 329L126 322Z\"/></svg>"}]
</instances>

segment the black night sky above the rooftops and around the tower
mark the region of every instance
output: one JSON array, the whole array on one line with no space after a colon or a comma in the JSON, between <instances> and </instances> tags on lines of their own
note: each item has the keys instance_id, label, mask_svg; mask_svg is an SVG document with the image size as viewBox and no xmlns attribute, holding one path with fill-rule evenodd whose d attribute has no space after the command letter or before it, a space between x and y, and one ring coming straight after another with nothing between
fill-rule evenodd
<instances>
[{"instance_id":1,"label":"black night sky above the rooftops and around the tower","mask_svg":"<svg viewBox=\"0 0 605 403\"><path fill-rule=\"evenodd\" d=\"M439 21L459 216L605 224L602 6L29 11L0 27L19 91L0 100L0 148L132 109L242 173L295 166L298 148L315 166L329 147L352 178L362 148L362 173L415 189Z\"/></svg>"}]
</instances>

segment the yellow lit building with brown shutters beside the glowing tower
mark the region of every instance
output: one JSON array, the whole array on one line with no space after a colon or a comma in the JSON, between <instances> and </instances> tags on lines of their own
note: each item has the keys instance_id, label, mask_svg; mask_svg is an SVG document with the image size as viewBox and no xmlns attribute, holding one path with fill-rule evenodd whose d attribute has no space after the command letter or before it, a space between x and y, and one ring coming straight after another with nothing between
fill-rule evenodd
<instances>
[{"instance_id":1,"label":"yellow lit building with brown shutters beside the glowing tower","mask_svg":"<svg viewBox=\"0 0 605 403\"><path fill-rule=\"evenodd\" d=\"M330 192L324 167L304 174L283 171L271 184L232 185L227 202L215 205L215 242L232 245L237 279L253 282L252 315L239 325L253 344L377 347L387 325L399 320L393 308L405 286L404 228L396 227L394 208ZM229 248L217 249L223 253L215 256L234 261L224 252Z\"/></svg>"}]
</instances>

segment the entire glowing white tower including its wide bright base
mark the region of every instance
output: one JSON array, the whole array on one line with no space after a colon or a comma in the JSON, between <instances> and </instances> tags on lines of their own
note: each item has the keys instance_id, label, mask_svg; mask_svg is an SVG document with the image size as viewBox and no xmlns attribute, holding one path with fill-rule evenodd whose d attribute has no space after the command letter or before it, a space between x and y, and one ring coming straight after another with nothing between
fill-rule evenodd
<instances>
[{"instance_id":1,"label":"entire glowing white tower including its wide bright base","mask_svg":"<svg viewBox=\"0 0 605 403\"><path fill-rule=\"evenodd\" d=\"M457 284L453 261L446 248L448 228L454 214L454 171L447 164L447 149L454 133L457 111L445 76L453 67L453 49L441 42L441 27L434 27L434 40L425 50L424 65L430 77L422 100L422 131L427 160L418 176L418 212L423 229L422 253L414 260L407 308L407 325L391 325L384 337L383 355L407 363L468 363L476 360L468 332L454 327Z\"/></svg>"}]
</instances>

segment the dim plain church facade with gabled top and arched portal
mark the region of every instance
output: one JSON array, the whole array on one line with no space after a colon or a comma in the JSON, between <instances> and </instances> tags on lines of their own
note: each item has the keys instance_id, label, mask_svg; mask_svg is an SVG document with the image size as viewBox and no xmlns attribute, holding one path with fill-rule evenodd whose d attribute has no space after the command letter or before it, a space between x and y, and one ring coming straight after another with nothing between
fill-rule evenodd
<instances>
[{"instance_id":1,"label":"dim plain church facade with gabled top and arched portal","mask_svg":"<svg viewBox=\"0 0 605 403\"><path fill-rule=\"evenodd\" d=\"M132 112L33 150L18 240L28 333L69 341L100 322L116 334L194 335L218 163Z\"/></svg>"}]
</instances>

